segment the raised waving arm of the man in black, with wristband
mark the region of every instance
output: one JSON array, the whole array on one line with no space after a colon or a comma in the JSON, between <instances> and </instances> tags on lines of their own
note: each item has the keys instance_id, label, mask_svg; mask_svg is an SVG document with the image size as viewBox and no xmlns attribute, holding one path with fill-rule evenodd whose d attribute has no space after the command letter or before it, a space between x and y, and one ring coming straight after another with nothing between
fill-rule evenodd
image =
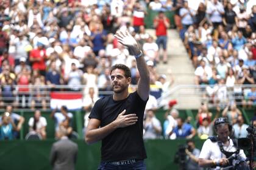
<instances>
[{"instance_id":1,"label":"raised waving arm of the man in black, with wristband","mask_svg":"<svg viewBox=\"0 0 256 170\"><path fill-rule=\"evenodd\" d=\"M140 79L138 80L138 95L142 100L146 101L149 97L149 70L144 60L143 53L138 46L137 41L130 35L129 32L118 31L115 37L118 42L129 48L130 54L134 55L137 61Z\"/></svg>"}]
</instances>

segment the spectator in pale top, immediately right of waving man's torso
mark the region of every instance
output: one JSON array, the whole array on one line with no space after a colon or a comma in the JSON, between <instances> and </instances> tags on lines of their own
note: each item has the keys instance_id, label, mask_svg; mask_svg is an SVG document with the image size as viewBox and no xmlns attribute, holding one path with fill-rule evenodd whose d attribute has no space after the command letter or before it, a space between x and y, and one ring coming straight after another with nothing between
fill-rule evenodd
<instances>
[{"instance_id":1,"label":"spectator in pale top, immediately right of waving man's torso","mask_svg":"<svg viewBox=\"0 0 256 170\"><path fill-rule=\"evenodd\" d=\"M144 139L160 138L162 126L160 121L155 117L154 110L146 112L146 120L144 120Z\"/></svg>"}]
</instances>

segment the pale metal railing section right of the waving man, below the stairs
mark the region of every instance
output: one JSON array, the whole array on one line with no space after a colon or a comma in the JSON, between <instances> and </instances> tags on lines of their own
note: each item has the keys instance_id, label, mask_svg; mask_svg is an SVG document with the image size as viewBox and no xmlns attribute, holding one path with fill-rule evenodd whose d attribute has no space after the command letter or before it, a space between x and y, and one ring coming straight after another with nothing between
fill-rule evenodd
<instances>
[{"instance_id":1,"label":"pale metal railing section right of the waving man, below the stairs","mask_svg":"<svg viewBox=\"0 0 256 170\"><path fill-rule=\"evenodd\" d=\"M256 84L239 84L233 87L226 85L195 85L184 84L173 87L158 98L158 107L168 107L170 100L177 100L178 109L198 109L201 103L209 107L226 106L236 103L241 106L248 100L247 94Z\"/></svg>"}]
</instances>

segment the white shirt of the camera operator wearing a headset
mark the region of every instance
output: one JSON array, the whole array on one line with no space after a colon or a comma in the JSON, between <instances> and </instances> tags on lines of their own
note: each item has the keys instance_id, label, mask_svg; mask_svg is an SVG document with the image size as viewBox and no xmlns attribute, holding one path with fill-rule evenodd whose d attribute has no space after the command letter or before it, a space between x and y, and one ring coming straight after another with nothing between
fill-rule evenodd
<instances>
[{"instance_id":1,"label":"white shirt of the camera operator wearing a headset","mask_svg":"<svg viewBox=\"0 0 256 170\"><path fill-rule=\"evenodd\" d=\"M229 146L223 146L223 149L228 152L235 152L236 148L233 144L233 141L229 139ZM244 155L244 151L240 150L240 155L243 158L246 158ZM212 142L210 139L207 139L202 146L201 153L199 158L207 159L207 160L219 160L220 158L226 158L226 155L222 154L221 150L219 149L218 142ZM212 169L219 169L217 166L216 168Z\"/></svg>"}]
</instances>

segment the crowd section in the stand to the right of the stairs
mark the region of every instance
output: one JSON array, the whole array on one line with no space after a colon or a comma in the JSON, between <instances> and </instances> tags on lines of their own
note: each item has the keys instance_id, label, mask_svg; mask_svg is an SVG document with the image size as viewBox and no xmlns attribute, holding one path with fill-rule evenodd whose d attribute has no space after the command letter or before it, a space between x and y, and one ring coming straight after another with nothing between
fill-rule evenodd
<instances>
[{"instance_id":1,"label":"crowd section in the stand to the right of the stairs","mask_svg":"<svg viewBox=\"0 0 256 170\"><path fill-rule=\"evenodd\" d=\"M256 82L256 2L200 1L197 10L188 2L177 1L176 25L203 96L215 106L255 106L255 88L246 85Z\"/></svg>"}]
</instances>

